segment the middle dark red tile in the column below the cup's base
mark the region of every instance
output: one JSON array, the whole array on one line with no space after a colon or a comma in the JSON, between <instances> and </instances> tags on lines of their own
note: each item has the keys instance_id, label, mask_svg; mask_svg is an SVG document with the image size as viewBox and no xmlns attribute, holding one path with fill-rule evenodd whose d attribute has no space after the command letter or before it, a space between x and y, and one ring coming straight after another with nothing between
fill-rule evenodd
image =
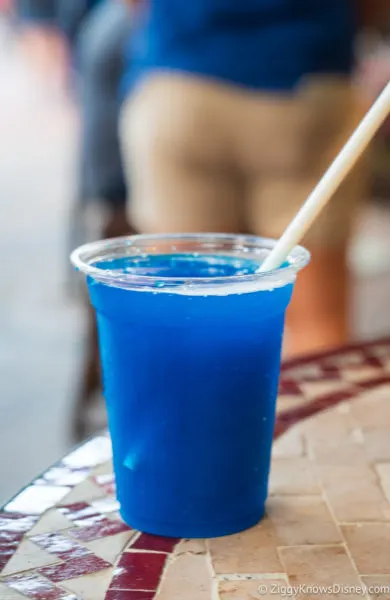
<instances>
[{"instance_id":1,"label":"middle dark red tile in the column below the cup's base","mask_svg":"<svg viewBox=\"0 0 390 600\"><path fill-rule=\"evenodd\" d=\"M167 556L149 552L125 552L115 569L112 590L154 592L160 582Z\"/></svg>"}]
</instances>

